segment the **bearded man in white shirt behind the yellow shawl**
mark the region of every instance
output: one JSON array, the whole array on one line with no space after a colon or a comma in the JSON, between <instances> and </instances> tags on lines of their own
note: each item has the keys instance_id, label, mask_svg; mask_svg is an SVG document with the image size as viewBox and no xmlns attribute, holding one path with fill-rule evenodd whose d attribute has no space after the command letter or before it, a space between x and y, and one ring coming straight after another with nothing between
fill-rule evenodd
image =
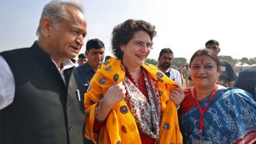
<instances>
[{"instance_id":1,"label":"bearded man in white shirt behind the yellow shawl","mask_svg":"<svg viewBox=\"0 0 256 144\"><path fill-rule=\"evenodd\" d=\"M158 57L158 68L165 73L170 79L177 82L181 87L183 87L181 73L176 69L170 68L173 60L173 52L170 48L163 48L160 51Z\"/></svg>"}]
</instances>

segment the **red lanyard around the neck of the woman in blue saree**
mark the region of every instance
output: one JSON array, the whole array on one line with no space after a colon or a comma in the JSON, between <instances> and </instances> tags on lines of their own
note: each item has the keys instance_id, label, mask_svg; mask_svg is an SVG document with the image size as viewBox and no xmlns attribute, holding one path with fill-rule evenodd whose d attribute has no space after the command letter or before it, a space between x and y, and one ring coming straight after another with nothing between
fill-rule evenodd
<instances>
[{"instance_id":1,"label":"red lanyard around the neck of the woman in blue saree","mask_svg":"<svg viewBox=\"0 0 256 144\"><path fill-rule=\"evenodd\" d=\"M218 85L215 86L214 92L212 92L212 96L211 96L208 104L205 106L205 108L202 109L201 105L199 104L199 102L197 100L197 92L196 92L195 88L193 89L194 98L195 98L195 101L197 102L197 106L198 106L198 109L199 109L199 112L200 112L199 129L200 129L201 139L203 139L203 132L202 132L202 130L203 130L203 114L205 114L205 112L207 111L207 109L210 105L210 102L214 98L217 90L218 90Z\"/></svg>"}]
</instances>

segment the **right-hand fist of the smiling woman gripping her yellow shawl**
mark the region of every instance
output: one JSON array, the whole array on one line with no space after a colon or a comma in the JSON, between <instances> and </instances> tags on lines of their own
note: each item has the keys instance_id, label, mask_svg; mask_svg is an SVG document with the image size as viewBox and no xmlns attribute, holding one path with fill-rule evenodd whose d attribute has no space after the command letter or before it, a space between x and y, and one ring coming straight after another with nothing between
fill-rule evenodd
<instances>
[{"instance_id":1,"label":"right-hand fist of the smiling woman gripping her yellow shawl","mask_svg":"<svg viewBox=\"0 0 256 144\"><path fill-rule=\"evenodd\" d=\"M183 101L185 94L183 92L183 89L181 89L181 87L178 87L173 89L172 92L170 92L169 97L178 108L181 102Z\"/></svg>"}]
</instances>

